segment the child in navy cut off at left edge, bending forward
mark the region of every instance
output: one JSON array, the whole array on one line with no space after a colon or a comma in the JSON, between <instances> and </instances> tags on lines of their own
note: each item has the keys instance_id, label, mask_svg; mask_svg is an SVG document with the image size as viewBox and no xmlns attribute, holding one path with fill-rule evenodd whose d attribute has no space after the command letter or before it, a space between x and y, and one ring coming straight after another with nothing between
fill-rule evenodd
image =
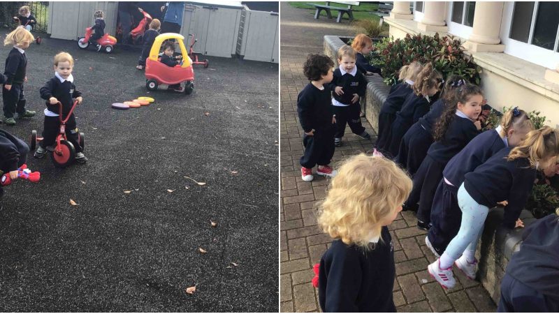
<instances>
[{"instance_id":1,"label":"child in navy cut off at left edge, bending forward","mask_svg":"<svg viewBox=\"0 0 559 314\"><path fill-rule=\"evenodd\" d=\"M0 129L0 176L9 172L11 179L17 178L17 168L25 163L28 152L27 143ZM0 186L0 199L3 194Z\"/></svg>"}]
</instances>

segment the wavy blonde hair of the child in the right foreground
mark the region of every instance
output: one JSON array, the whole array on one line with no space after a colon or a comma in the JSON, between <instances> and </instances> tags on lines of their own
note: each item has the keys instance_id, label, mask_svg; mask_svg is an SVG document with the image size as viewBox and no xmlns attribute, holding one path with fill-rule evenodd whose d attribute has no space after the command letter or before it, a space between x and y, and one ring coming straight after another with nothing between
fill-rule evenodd
<instances>
[{"instance_id":1,"label":"wavy blonde hair of the child in the right foreground","mask_svg":"<svg viewBox=\"0 0 559 314\"><path fill-rule=\"evenodd\" d=\"M393 161L359 154L344 161L319 204L318 223L344 244L368 247L380 237L381 221L395 214L412 180Z\"/></svg>"}]
</instances>

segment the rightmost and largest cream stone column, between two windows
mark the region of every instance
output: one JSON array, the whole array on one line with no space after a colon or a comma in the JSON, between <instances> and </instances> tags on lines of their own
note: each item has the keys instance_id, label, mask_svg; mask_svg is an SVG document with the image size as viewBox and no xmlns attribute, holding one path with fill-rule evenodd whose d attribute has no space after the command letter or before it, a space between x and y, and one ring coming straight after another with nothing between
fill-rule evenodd
<instances>
[{"instance_id":1,"label":"rightmost and largest cream stone column, between two windows","mask_svg":"<svg viewBox=\"0 0 559 314\"><path fill-rule=\"evenodd\" d=\"M503 52L499 37L503 2L476 1L472 34L464 47L470 52Z\"/></svg>"}]
</instances>

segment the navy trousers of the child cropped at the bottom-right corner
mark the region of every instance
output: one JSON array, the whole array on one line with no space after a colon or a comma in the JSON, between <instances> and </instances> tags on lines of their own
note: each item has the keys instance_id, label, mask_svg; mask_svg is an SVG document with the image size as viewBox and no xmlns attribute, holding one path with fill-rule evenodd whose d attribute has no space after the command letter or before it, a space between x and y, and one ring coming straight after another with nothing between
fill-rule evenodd
<instances>
[{"instance_id":1,"label":"navy trousers of the child cropped at the bottom-right corner","mask_svg":"<svg viewBox=\"0 0 559 314\"><path fill-rule=\"evenodd\" d=\"M559 300L537 292L505 273L501 281L501 298L497 311L500 313L559 312Z\"/></svg>"}]
</instances>

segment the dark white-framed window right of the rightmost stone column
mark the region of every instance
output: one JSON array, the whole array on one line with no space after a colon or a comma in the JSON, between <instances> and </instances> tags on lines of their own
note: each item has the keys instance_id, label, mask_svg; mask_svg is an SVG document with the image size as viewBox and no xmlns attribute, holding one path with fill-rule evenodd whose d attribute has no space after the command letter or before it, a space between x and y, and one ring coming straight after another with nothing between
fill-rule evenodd
<instances>
[{"instance_id":1,"label":"dark white-framed window right of the rightmost stone column","mask_svg":"<svg viewBox=\"0 0 559 314\"><path fill-rule=\"evenodd\" d=\"M558 2L515 2L509 38L559 51Z\"/></svg>"}]
</instances>

